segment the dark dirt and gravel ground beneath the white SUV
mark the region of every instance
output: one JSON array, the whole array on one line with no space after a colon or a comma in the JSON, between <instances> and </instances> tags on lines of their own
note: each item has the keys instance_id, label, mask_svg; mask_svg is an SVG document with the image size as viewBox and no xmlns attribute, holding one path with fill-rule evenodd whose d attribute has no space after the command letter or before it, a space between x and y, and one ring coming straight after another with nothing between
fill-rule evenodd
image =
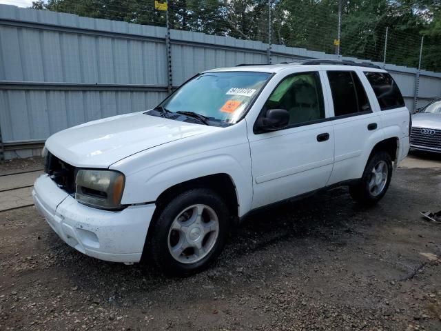
<instances>
[{"instance_id":1,"label":"dark dirt and gravel ground beneath the white SUV","mask_svg":"<svg viewBox=\"0 0 441 331\"><path fill-rule=\"evenodd\" d=\"M441 225L419 214L441 209L429 159L373 208L336 188L254 214L185 279L85 257L33 207L2 212L0 330L441 330Z\"/></svg>"}]
</instances>

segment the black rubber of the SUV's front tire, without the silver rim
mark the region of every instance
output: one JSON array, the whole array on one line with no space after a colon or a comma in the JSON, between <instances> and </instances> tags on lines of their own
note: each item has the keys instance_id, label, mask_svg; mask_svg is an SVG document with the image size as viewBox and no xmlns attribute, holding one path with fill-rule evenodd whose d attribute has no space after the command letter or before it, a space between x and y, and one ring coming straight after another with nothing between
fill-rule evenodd
<instances>
[{"instance_id":1,"label":"black rubber of the SUV's front tire, without the silver rim","mask_svg":"<svg viewBox=\"0 0 441 331\"><path fill-rule=\"evenodd\" d=\"M205 204L216 212L219 222L219 232L212 250L201 261L196 263L181 263L176 261L168 248L168 234L178 213L195 204ZM150 244L152 258L163 272L173 276L187 276L199 272L214 261L225 245L228 230L229 214L227 205L216 192L209 189L193 189L179 194L172 199L154 222Z\"/></svg>"}]
</instances>

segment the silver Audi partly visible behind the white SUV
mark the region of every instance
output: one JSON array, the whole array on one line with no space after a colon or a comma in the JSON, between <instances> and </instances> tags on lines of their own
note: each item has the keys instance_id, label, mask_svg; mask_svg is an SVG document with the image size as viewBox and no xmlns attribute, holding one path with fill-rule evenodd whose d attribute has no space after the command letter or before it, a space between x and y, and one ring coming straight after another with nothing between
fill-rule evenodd
<instances>
[{"instance_id":1,"label":"silver Audi partly visible behind the white SUV","mask_svg":"<svg viewBox=\"0 0 441 331\"><path fill-rule=\"evenodd\" d=\"M411 148L441 153L441 99L413 114Z\"/></svg>"}]
</instances>

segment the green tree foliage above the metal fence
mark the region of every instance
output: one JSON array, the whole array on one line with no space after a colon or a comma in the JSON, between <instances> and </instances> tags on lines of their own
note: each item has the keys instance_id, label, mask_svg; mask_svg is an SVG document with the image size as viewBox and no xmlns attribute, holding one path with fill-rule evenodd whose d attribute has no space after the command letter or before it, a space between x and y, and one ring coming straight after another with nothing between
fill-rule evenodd
<instances>
[{"instance_id":1,"label":"green tree foliage above the metal fence","mask_svg":"<svg viewBox=\"0 0 441 331\"><path fill-rule=\"evenodd\" d=\"M170 27L239 39L269 41L267 0L171 0ZM165 26L154 0L38 0L32 8L85 17ZM338 0L271 1L271 42L335 52ZM441 71L441 0L342 1L340 54L382 61L389 28L387 62Z\"/></svg>"}]
</instances>

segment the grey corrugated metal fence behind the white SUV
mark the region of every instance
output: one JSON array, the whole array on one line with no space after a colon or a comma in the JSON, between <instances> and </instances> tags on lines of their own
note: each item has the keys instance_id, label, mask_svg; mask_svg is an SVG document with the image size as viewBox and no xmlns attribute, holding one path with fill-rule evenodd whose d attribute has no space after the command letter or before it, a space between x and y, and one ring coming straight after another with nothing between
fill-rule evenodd
<instances>
[{"instance_id":1,"label":"grey corrugated metal fence behind the white SUV","mask_svg":"<svg viewBox=\"0 0 441 331\"><path fill-rule=\"evenodd\" d=\"M0 5L0 148L6 159L30 157L54 132L156 106L197 72L298 59L357 61L305 48ZM441 73L385 68L409 109L441 96Z\"/></svg>"}]
</instances>

